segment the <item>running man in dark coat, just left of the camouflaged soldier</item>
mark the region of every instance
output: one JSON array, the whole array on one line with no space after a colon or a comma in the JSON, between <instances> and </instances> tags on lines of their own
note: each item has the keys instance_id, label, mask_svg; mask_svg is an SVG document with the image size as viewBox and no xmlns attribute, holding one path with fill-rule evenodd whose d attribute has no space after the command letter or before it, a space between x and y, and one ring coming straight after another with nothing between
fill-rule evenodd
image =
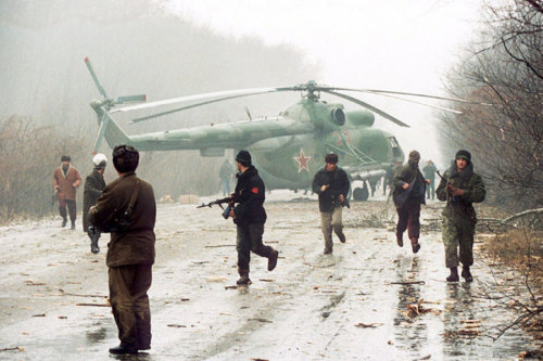
<instances>
[{"instance_id":1,"label":"running man in dark coat, just left of the camouflaged soldier","mask_svg":"<svg viewBox=\"0 0 543 361\"><path fill-rule=\"evenodd\" d=\"M394 185L392 199L397 211L396 242L400 247L403 247L403 234L407 230L414 254L420 249L418 243L420 236L420 205L426 204L426 185L429 182L425 180L418 169L419 160L420 153L412 151L407 163L392 182Z\"/></svg>"}]
</instances>

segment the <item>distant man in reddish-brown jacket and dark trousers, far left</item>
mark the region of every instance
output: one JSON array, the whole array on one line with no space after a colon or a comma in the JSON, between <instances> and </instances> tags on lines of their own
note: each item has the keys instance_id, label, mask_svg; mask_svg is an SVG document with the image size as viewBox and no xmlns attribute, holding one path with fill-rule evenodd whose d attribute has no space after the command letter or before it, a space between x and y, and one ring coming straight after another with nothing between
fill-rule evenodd
<instances>
[{"instance_id":1,"label":"distant man in reddish-brown jacket and dark trousers, far left","mask_svg":"<svg viewBox=\"0 0 543 361\"><path fill-rule=\"evenodd\" d=\"M53 172L53 190L59 198L59 212L62 217L62 227L66 227L67 223L67 206L72 230L75 230L75 218L77 215L75 193L79 184L81 184L81 176L76 168L70 165L71 160L67 155L61 157L62 165L56 167Z\"/></svg>"}]
</instances>

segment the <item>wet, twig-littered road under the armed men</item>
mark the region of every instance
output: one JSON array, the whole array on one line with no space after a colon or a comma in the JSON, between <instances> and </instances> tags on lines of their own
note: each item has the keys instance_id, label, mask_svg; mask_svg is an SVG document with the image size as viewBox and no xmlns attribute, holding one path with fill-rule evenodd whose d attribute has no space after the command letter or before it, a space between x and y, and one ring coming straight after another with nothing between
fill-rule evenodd
<instances>
[{"instance_id":1,"label":"wet, twig-littered road under the armed men","mask_svg":"<svg viewBox=\"0 0 543 361\"><path fill-rule=\"evenodd\" d=\"M159 207L152 349L131 358L108 354L118 344L104 307L109 236L96 256L79 223L76 231L58 219L1 228L0 348L8 350L0 359L510 360L531 347L516 328L490 337L515 315L485 294L496 283L509 291L520 283L512 271L477 253L476 281L447 284L440 233L425 227L417 255L397 247L384 202L344 211L348 242L334 238L326 256L315 201L268 202L266 209L264 238L279 249L278 267L268 272L253 255L253 284L230 288L231 221L218 208ZM384 227L368 227L371 215ZM437 215L422 211L424 219Z\"/></svg>"}]
</instances>

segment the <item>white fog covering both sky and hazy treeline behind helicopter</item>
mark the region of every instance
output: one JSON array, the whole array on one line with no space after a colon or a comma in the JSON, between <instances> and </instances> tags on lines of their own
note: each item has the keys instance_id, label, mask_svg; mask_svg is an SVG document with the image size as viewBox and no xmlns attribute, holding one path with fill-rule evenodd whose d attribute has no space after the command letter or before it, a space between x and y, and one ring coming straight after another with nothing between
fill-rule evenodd
<instances>
[{"instance_id":1,"label":"white fog covering both sky and hazy treeline behind helicopter","mask_svg":"<svg viewBox=\"0 0 543 361\"><path fill-rule=\"evenodd\" d=\"M467 10L473 7L466 1L411 7L401 1L371 5L349 0L333 5L4 0L0 2L0 119L29 117L38 126L52 126L59 134L77 139L80 149L72 154L73 165L85 177L98 130L89 102L101 98L84 64L86 56L112 98L146 93L153 101L310 79L442 95L445 60L454 57L471 30L462 28L475 16L464 16L462 11ZM137 134L247 119L244 106L252 116L275 116L298 100L295 93L256 95L138 125L128 125L126 116L115 118L127 133ZM377 117L376 126L396 134L404 151L417 147L424 158L446 159L435 144L432 109L377 96L364 100L412 125L400 128ZM111 154L105 142L100 151ZM52 165L60 155L39 154ZM209 193L217 189L222 162L201 158L198 151L147 152L139 173L155 184L159 196ZM166 177L165 169L172 170ZM33 175L38 176L42 175ZM108 168L106 180L114 177Z\"/></svg>"}]
</instances>

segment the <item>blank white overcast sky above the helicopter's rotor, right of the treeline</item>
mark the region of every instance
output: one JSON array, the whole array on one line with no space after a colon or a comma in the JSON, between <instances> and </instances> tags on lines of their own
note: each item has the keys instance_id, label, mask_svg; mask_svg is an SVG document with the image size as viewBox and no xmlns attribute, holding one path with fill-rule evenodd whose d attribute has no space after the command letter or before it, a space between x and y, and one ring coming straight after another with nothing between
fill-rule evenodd
<instances>
[{"instance_id":1,"label":"blank white overcast sky above the helicopter's rotor, right of the treeline","mask_svg":"<svg viewBox=\"0 0 543 361\"><path fill-rule=\"evenodd\" d=\"M320 66L317 82L438 95L444 94L443 77L476 35L480 16L479 0L172 0L171 7L223 36L294 46L304 61ZM445 160L435 155L433 111L363 99L412 126L377 123L399 137L404 151L418 149L424 158Z\"/></svg>"}]
</instances>

